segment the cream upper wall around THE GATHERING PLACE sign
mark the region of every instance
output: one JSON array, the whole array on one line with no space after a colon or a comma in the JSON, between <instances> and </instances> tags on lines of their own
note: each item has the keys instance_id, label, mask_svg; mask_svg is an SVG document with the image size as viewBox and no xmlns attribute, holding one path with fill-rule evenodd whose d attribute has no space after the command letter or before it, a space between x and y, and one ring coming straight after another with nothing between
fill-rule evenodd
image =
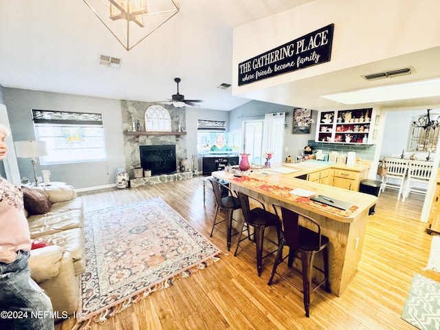
<instances>
[{"instance_id":1,"label":"cream upper wall around THE GATHERING PLACE sign","mask_svg":"<svg viewBox=\"0 0 440 330\"><path fill-rule=\"evenodd\" d=\"M343 8L343 10L342 10ZM316 0L234 28L232 94L440 45L438 0ZM238 65L334 23L331 61L238 87Z\"/></svg>"}]
</instances>

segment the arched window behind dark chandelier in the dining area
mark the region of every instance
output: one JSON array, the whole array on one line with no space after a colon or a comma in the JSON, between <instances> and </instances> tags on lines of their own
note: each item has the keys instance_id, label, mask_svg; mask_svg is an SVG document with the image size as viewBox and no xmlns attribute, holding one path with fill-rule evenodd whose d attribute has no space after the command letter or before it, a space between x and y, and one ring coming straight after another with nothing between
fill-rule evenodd
<instances>
[{"instance_id":1,"label":"arched window behind dark chandelier in the dining area","mask_svg":"<svg viewBox=\"0 0 440 330\"><path fill-rule=\"evenodd\" d=\"M434 120L434 118L437 118ZM440 115L420 115L411 124L408 151L436 151L440 133Z\"/></svg>"}]
</instances>

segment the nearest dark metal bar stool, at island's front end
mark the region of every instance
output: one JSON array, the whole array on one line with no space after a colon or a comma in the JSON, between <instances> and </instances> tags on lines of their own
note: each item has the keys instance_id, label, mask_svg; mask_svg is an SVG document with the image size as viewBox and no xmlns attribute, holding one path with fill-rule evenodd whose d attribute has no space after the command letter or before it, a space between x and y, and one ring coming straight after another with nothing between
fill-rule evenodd
<instances>
[{"instance_id":1,"label":"nearest dark metal bar stool, at island's front end","mask_svg":"<svg viewBox=\"0 0 440 330\"><path fill-rule=\"evenodd\" d=\"M292 267L294 258L296 257L296 251L300 252L303 268L303 289L300 289L300 287L294 285L294 283L287 280L287 278L285 278L281 274L276 274L281 276L281 278L287 281L287 283L303 292L305 316L307 316L308 318L311 292L314 292L316 289L318 289L318 287L320 287L322 283L325 283L327 292L330 292L328 249L329 238L321 234L320 225L314 219L311 219L304 214L289 210L288 208L285 208L277 203L274 203L273 206L277 215L280 215L278 214L278 209L281 210L283 232L281 243L278 247L278 253L276 254L272 275L270 276L267 285L272 284L272 280L274 279L274 275L276 273L276 268L278 267L278 265L282 263L287 257L289 257L287 265L289 267ZM303 217L303 219L307 221L307 223L313 225L317 229L317 232L301 226L299 224L299 217ZM284 245L287 245L289 247L289 254L287 254L287 256L283 258ZM313 284L311 281L311 275L314 269L314 256L320 251L322 251L324 254L324 270L320 270L317 267L315 268L322 272L325 278L318 285L316 285L316 287L311 289L311 286Z\"/></svg>"}]
</instances>

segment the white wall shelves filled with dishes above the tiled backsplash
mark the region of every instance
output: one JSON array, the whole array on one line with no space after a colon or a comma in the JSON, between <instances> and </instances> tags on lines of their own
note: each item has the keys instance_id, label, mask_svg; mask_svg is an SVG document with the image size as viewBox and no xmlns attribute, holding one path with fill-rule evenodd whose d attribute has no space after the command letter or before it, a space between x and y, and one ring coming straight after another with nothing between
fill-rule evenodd
<instances>
[{"instance_id":1,"label":"white wall shelves filled with dishes above the tiled backsplash","mask_svg":"<svg viewBox=\"0 0 440 330\"><path fill-rule=\"evenodd\" d=\"M320 111L316 142L372 144L373 109Z\"/></svg>"}]
</instances>

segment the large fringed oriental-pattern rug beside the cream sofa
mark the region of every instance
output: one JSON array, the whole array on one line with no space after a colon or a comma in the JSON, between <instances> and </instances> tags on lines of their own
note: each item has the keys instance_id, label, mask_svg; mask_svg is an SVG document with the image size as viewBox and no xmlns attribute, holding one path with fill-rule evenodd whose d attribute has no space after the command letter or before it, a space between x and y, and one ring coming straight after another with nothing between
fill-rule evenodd
<instances>
[{"instance_id":1,"label":"large fringed oriental-pattern rug beside the cream sofa","mask_svg":"<svg viewBox=\"0 0 440 330\"><path fill-rule=\"evenodd\" d=\"M86 212L85 236L80 329L211 265L221 253L159 198Z\"/></svg>"}]
</instances>

